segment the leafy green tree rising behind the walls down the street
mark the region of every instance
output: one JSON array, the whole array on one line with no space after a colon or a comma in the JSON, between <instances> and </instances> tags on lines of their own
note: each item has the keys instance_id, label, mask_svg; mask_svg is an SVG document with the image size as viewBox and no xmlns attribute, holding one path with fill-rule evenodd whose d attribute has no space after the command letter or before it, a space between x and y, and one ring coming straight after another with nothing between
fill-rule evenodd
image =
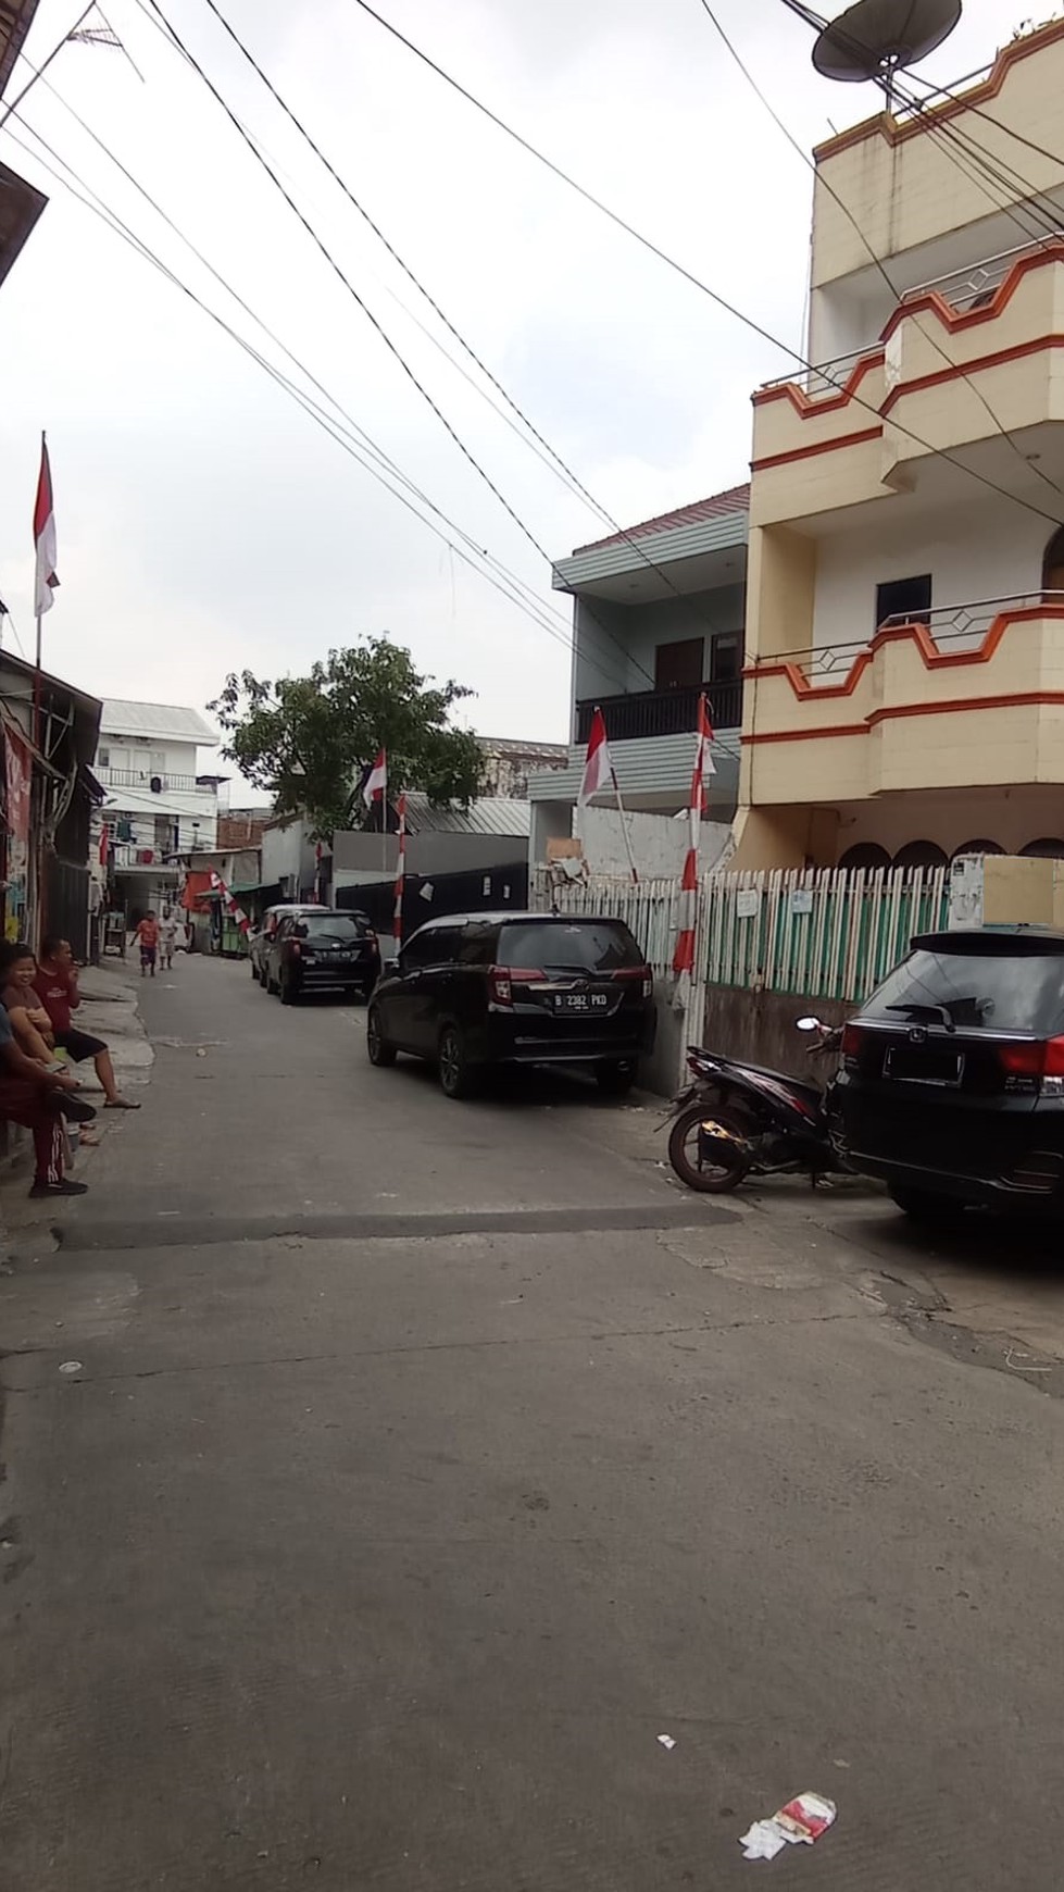
<instances>
[{"instance_id":1,"label":"leafy green tree rising behind the walls down the street","mask_svg":"<svg viewBox=\"0 0 1064 1892\"><path fill-rule=\"evenodd\" d=\"M363 770L387 749L389 797L421 789L437 806L469 806L480 787L476 736L448 727L461 683L435 685L414 670L410 651L367 638L329 651L308 677L261 681L232 672L208 708L223 730L223 755L280 815L306 815L316 834L361 827Z\"/></svg>"}]
</instances>

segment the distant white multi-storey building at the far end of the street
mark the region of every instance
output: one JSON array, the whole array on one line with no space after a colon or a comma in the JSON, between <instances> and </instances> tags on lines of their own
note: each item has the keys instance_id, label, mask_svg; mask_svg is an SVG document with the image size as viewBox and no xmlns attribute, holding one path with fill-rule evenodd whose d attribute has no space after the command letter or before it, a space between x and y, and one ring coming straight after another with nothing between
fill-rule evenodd
<instances>
[{"instance_id":1,"label":"distant white multi-storey building at the far end of the street","mask_svg":"<svg viewBox=\"0 0 1064 1892\"><path fill-rule=\"evenodd\" d=\"M146 910L170 899L178 861L217 844L217 785L200 768L200 749L217 734L198 710L176 704L104 700L94 774L106 802L115 904Z\"/></svg>"}]
</instances>

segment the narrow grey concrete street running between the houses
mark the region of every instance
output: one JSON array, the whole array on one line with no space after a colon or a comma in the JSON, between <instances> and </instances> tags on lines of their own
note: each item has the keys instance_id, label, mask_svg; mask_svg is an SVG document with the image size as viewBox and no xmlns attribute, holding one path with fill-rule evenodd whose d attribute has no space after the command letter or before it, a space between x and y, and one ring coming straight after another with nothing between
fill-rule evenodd
<instances>
[{"instance_id":1,"label":"narrow grey concrete street running between the houses","mask_svg":"<svg viewBox=\"0 0 1064 1892\"><path fill-rule=\"evenodd\" d=\"M1041 1251L699 1200L650 1099L454 1105L244 965L138 997L144 1109L0 1281L11 1892L1058 1881Z\"/></svg>"}]
</instances>

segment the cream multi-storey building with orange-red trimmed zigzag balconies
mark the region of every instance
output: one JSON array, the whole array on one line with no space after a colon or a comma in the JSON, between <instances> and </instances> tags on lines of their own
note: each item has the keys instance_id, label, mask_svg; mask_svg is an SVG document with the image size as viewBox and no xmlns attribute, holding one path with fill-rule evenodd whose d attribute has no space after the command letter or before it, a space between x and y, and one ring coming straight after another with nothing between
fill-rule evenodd
<instances>
[{"instance_id":1,"label":"cream multi-storey building with orange-red trimmed zigzag balconies","mask_svg":"<svg viewBox=\"0 0 1064 1892\"><path fill-rule=\"evenodd\" d=\"M822 365L754 395L737 867L1064 853L1062 98L1053 21L815 153Z\"/></svg>"}]
</instances>

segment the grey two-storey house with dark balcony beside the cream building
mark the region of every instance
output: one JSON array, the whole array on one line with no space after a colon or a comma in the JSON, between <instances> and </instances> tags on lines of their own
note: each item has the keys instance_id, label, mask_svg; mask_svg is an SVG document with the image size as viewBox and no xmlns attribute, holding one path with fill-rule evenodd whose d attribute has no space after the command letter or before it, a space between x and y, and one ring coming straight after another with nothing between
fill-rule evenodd
<instances>
[{"instance_id":1,"label":"grey two-storey house with dark balcony beside the cream building","mask_svg":"<svg viewBox=\"0 0 1064 1892\"><path fill-rule=\"evenodd\" d=\"M709 815L731 821L747 535L748 488L735 486L584 545L556 566L556 590L573 598L571 745L565 768L529 774L533 867L546 861L550 842L573 834L595 708L626 808L675 815L690 798L697 698L707 691L716 732Z\"/></svg>"}]
</instances>

